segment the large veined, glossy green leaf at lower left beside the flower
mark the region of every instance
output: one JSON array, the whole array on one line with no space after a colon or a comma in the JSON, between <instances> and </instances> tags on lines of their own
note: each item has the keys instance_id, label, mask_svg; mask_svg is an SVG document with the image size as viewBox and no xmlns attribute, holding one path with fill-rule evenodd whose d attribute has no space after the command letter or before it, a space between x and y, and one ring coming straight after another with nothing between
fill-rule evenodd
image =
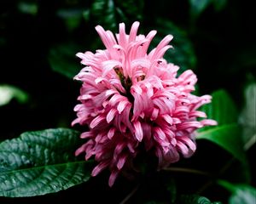
<instances>
[{"instance_id":1,"label":"large veined, glossy green leaf at lower left beside the flower","mask_svg":"<svg viewBox=\"0 0 256 204\"><path fill-rule=\"evenodd\" d=\"M22 133L0 144L0 195L9 197L55 193L90 178L90 162L74 151L79 132L67 128Z\"/></svg>"}]
</instances>

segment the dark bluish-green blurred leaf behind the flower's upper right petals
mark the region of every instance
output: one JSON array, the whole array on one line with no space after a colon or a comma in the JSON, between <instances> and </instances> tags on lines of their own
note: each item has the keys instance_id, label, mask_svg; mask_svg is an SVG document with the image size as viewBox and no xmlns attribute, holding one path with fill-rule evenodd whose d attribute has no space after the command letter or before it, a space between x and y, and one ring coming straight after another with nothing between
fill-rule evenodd
<instances>
[{"instance_id":1,"label":"dark bluish-green blurred leaf behind the flower's upper right petals","mask_svg":"<svg viewBox=\"0 0 256 204\"><path fill-rule=\"evenodd\" d=\"M172 46L166 51L164 58L169 62L180 67L179 72L183 72L189 69L195 69L196 57L193 45L187 35L186 31L182 28L174 25L170 20L157 19L156 29L158 34L151 42L151 48L156 45L167 35L172 35Z\"/></svg>"}]
</instances>

